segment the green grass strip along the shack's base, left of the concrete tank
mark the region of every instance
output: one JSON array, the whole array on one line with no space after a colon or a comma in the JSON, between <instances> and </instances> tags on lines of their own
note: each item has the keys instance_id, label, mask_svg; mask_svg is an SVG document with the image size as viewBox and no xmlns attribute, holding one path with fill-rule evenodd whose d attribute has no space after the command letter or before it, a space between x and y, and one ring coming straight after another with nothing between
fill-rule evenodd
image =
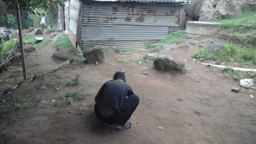
<instances>
[{"instance_id":1,"label":"green grass strip along the shack's base, left of the concrete tank","mask_svg":"<svg viewBox=\"0 0 256 144\"><path fill-rule=\"evenodd\" d=\"M165 45L177 43L186 39L188 39L188 37L185 30L180 30L167 35L159 43L148 45L146 48L149 48L151 51L159 51L159 49L161 49Z\"/></svg>"}]
</instances>

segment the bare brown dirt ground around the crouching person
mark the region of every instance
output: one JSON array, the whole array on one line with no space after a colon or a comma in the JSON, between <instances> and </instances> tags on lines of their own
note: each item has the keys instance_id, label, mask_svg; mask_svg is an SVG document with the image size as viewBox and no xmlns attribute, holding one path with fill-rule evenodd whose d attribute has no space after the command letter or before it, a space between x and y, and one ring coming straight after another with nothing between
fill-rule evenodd
<instances>
[{"instance_id":1,"label":"bare brown dirt ground around the crouching person","mask_svg":"<svg viewBox=\"0 0 256 144\"><path fill-rule=\"evenodd\" d=\"M207 67L191 57L199 48L196 43L212 40L218 41L189 39L167 46L169 50L165 51L191 69L185 74L159 71L152 61L144 65L129 61L153 53L150 51L116 54L97 65L72 63L45 73L60 64L51 58L56 52L51 41L42 49L26 54L28 75L33 76L36 71L40 77L33 82L27 80L12 92L26 103L13 113L1 115L0 143L255 144L256 90L240 87L238 81L219 76L220 69ZM118 62L120 59L126 62ZM14 86L15 77L22 76L12 73L14 69L17 67L0 74L1 92ZM99 88L116 71L126 72L126 83L140 98L129 120L132 128L124 131L116 131L111 125L101 126L93 109ZM81 83L66 86L77 74ZM55 90L56 87L60 89ZM232 87L240 88L240 92L231 92ZM85 97L68 104L63 97L74 90L81 90ZM56 101L52 102L53 99Z\"/></svg>"}]
</instances>

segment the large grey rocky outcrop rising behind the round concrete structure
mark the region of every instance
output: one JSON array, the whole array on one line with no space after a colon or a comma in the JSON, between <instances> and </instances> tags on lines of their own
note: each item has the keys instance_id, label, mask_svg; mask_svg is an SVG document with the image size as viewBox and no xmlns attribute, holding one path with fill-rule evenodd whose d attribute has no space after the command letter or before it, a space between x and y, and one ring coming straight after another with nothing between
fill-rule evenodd
<instances>
[{"instance_id":1,"label":"large grey rocky outcrop rising behind the round concrete structure","mask_svg":"<svg viewBox=\"0 0 256 144\"><path fill-rule=\"evenodd\" d=\"M255 0L189 0L191 3L183 6L181 29L185 29L186 21L221 20L242 10L255 10Z\"/></svg>"}]
</instances>

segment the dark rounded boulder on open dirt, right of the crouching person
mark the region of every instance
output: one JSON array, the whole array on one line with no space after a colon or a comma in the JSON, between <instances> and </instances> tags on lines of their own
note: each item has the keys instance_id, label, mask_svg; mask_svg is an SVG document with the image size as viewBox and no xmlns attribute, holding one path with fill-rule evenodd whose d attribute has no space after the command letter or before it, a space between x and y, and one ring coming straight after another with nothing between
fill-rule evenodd
<instances>
[{"instance_id":1,"label":"dark rounded boulder on open dirt, right of the crouching person","mask_svg":"<svg viewBox=\"0 0 256 144\"><path fill-rule=\"evenodd\" d=\"M153 63L158 70L180 71L185 68L185 64L171 55L159 55Z\"/></svg>"}]
</instances>

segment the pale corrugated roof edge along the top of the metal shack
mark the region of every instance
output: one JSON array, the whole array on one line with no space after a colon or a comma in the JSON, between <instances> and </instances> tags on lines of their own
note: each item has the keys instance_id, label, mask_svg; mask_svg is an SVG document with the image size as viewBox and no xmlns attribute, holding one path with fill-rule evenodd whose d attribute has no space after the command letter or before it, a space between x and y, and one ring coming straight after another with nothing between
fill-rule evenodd
<instances>
[{"instance_id":1,"label":"pale corrugated roof edge along the top of the metal shack","mask_svg":"<svg viewBox=\"0 0 256 144\"><path fill-rule=\"evenodd\" d=\"M185 0L94 0L94 1L123 1L123 2L143 2L143 3L174 3L174 4L187 4L189 1Z\"/></svg>"}]
</instances>

